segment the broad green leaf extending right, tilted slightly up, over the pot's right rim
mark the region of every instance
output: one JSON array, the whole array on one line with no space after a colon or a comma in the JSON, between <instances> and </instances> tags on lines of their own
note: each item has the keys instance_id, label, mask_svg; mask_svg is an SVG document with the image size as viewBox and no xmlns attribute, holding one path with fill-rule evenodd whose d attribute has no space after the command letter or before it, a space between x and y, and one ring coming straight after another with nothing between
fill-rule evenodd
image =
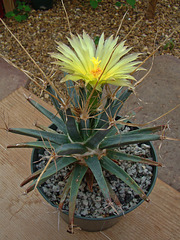
<instances>
[{"instance_id":1,"label":"broad green leaf extending right, tilted slightly up, over the pot's right rim","mask_svg":"<svg viewBox=\"0 0 180 240\"><path fill-rule=\"evenodd\" d=\"M105 138L105 140L100 143L99 148L116 148L126 144L145 143L160 139L159 135L151 134L118 134Z\"/></svg>"}]
</instances>

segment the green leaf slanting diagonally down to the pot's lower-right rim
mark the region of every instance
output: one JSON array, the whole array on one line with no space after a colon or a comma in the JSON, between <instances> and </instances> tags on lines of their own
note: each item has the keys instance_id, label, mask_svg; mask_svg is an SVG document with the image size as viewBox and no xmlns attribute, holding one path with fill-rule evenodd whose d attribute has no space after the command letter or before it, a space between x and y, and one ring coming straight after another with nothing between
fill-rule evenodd
<instances>
[{"instance_id":1,"label":"green leaf slanting diagonally down to the pot's lower-right rim","mask_svg":"<svg viewBox=\"0 0 180 240\"><path fill-rule=\"evenodd\" d=\"M114 174L116 177L120 178L129 187L131 187L142 199L149 201L143 190L137 185L137 183L116 163L111 161L108 157L102 157L101 166Z\"/></svg>"}]
</instances>

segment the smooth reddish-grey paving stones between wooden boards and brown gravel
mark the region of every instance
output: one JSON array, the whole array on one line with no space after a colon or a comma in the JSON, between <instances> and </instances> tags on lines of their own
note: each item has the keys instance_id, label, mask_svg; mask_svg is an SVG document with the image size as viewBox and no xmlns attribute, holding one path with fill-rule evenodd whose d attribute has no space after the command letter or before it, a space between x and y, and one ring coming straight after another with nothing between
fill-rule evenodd
<instances>
[{"instance_id":1,"label":"smooth reddish-grey paving stones between wooden boards and brown gravel","mask_svg":"<svg viewBox=\"0 0 180 240\"><path fill-rule=\"evenodd\" d=\"M144 64L144 67L148 69L150 65L151 59ZM144 71L139 72L136 75L137 79L144 73ZM0 59L0 99L20 86L26 87L27 84L28 79L22 72ZM137 106L143 107L133 120L136 123L151 121L177 106L180 103L180 59L169 55L155 57L151 73L136 91L137 95L131 96L124 106L125 112ZM170 129L166 136L180 138L179 122L180 108L177 108L156 124L169 123ZM159 178L180 191L179 142L163 141L155 143L155 147L159 161L164 164L164 167L159 169Z\"/></svg>"}]
</instances>

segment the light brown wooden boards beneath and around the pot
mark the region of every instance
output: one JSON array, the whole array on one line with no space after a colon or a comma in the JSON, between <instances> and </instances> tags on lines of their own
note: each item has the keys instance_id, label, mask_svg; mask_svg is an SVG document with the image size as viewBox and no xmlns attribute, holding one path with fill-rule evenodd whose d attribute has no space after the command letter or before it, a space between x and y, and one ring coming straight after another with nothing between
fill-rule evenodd
<instances>
[{"instance_id":1,"label":"light brown wooden boards beneath and around the pot","mask_svg":"<svg viewBox=\"0 0 180 240\"><path fill-rule=\"evenodd\" d=\"M25 100L30 93L23 88L13 92L0 102L0 128L9 121L9 127L33 127L35 121L48 125L50 122ZM38 100L49 110L55 110ZM20 182L30 173L31 149L6 149L8 144L27 141L0 129L0 239L3 240L178 240L180 232L180 193L161 180L157 180L150 195L151 202L121 217L114 227L101 232L76 230L74 235L66 232L67 225L60 220L58 212L48 205L38 192L23 196ZM105 237L105 235L107 237Z\"/></svg>"}]
</instances>

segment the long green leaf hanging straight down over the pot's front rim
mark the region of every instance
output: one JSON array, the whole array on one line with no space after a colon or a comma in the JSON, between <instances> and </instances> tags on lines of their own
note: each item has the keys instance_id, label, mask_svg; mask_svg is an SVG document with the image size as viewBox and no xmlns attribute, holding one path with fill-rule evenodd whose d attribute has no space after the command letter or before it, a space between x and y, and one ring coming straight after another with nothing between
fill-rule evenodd
<instances>
[{"instance_id":1,"label":"long green leaf hanging straight down over the pot's front rim","mask_svg":"<svg viewBox=\"0 0 180 240\"><path fill-rule=\"evenodd\" d=\"M69 198L69 225L70 229L73 229L74 223L74 212L76 206L76 198L79 190L79 186L82 179L87 171L88 167L77 164L72 172L72 181L70 187L70 198Z\"/></svg>"}]
</instances>

